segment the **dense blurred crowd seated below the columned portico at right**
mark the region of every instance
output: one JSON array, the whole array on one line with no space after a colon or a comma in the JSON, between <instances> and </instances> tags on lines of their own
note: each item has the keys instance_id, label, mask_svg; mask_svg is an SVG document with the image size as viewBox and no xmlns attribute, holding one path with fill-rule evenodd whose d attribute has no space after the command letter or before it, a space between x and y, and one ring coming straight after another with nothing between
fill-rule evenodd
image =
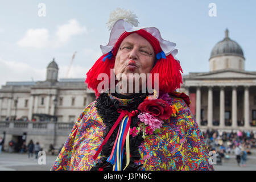
<instances>
[{"instance_id":1,"label":"dense blurred crowd seated below the columned portico at right","mask_svg":"<svg viewBox=\"0 0 256 182\"><path fill-rule=\"evenodd\" d=\"M209 151L216 151L218 159L229 159L230 155L236 155L238 166L245 167L247 155L256 148L255 134L253 131L220 132L207 130L203 132Z\"/></svg>"}]
</instances>

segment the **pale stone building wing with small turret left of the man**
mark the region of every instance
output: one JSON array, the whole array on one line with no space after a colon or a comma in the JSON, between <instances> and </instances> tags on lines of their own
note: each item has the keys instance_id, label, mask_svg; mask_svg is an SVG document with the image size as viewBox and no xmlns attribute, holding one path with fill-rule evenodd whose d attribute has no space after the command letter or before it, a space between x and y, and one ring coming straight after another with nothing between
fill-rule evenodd
<instances>
[{"instance_id":1,"label":"pale stone building wing with small turret left of the man","mask_svg":"<svg viewBox=\"0 0 256 182\"><path fill-rule=\"evenodd\" d=\"M1 121L35 118L37 121L74 122L82 110L95 100L85 78L60 78L53 59L45 81L6 82L0 89ZM57 117L57 118L56 118Z\"/></svg>"}]
</instances>

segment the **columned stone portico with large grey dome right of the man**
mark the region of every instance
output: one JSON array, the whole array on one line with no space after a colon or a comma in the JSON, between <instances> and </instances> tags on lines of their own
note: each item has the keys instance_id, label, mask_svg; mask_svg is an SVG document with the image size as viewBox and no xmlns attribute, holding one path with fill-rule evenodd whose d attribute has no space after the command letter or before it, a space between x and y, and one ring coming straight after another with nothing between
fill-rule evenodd
<instances>
[{"instance_id":1,"label":"columned stone portico with large grey dome right of the man","mask_svg":"<svg viewBox=\"0 0 256 182\"><path fill-rule=\"evenodd\" d=\"M228 30L210 53L209 72L183 76L180 90L189 94L202 129L255 130L256 72L245 71L242 48Z\"/></svg>"}]
</instances>

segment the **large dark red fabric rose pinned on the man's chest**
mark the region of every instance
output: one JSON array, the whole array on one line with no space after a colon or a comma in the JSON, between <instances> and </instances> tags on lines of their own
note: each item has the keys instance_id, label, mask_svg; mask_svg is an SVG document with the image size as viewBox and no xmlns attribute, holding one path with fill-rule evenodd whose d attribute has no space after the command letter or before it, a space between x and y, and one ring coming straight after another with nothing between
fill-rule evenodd
<instances>
[{"instance_id":1,"label":"large dark red fabric rose pinned on the man's chest","mask_svg":"<svg viewBox=\"0 0 256 182\"><path fill-rule=\"evenodd\" d=\"M163 100L144 100L139 106L138 110L150 113L152 116L159 117L162 120L169 119L172 114L170 105Z\"/></svg>"}]
</instances>

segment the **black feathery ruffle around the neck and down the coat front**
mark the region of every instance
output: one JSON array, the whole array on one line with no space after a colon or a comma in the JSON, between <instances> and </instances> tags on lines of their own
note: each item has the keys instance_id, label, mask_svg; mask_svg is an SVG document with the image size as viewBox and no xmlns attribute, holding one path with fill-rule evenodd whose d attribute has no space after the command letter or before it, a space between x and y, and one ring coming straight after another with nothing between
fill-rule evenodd
<instances>
[{"instance_id":1,"label":"black feathery ruffle around the neck and down the coat front","mask_svg":"<svg viewBox=\"0 0 256 182\"><path fill-rule=\"evenodd\" d=\"M96 100L96 109L98 111L98 114L102 118L102 121L105 123L106 128L104 130L104 138L106 135L108 135L110 129L114 125L115 121L117 121L117 118L119 117L119 113L117 112L118 109L123 109L127 111L133 111L137 110L139 104L144 101L144 99L148 96L148 94L133 94L129 97L123 96L121 94L112 94L116 98L122 99L128 99L126 104L123 104L118 99L115 99L114 97L109 96L108 93L102 93ZM120 96L121 95L121 96ZM139 114L139 113L138 113ZM139 118L137 115L133 118L131 118L131 126L134 127L137 126L137 122L139 121ZM119 127L119 126L118 126ZM108 163L106 160L108 159L108 156L112 152L112 148L114 146L115 138L117 137L118 133L118 127L114 130L112 136L109 138L108 142L102 147L101 151L101 159L99 162L91 168L92 171L98 171L98 170L109 170L112 171L113 165ZM136 137L130 137L130 164L125 169L126 171L137 171L141 168L142 165L137 166L134 163L134 160L138 160L141 158L141 155L139 154L138 147L143 142L142 134L137 135ZM125 150L125 147L124 147ZM124 154L126 154L126 151L124 151ZM126 157L123 157L123 167L125 167L126 164Z\"/></svg>"}]
</instances>

